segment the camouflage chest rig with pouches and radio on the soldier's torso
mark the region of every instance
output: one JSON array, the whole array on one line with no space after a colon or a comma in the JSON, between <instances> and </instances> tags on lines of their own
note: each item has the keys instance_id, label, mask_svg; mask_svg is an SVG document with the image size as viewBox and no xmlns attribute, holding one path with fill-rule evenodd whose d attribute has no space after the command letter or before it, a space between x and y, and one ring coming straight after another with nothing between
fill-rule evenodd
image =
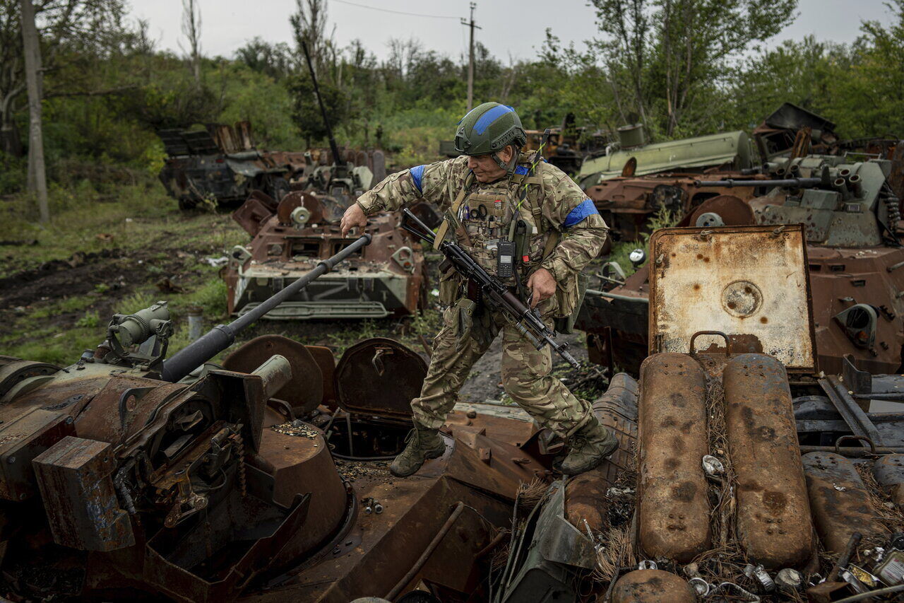
<instances>
[{"instance_id":1,"label":"camouflage chest rig with pouches and radio on the soldier's torso","mask_svg":"<svg viewBox=\"0 0 904 603\"><path fill-rule=\"evenodd\" d=\"M515 285L515 265L526 277L558 241L558 233L542 217L541 169L542 163L529 175L522 168L510 178L486 185L476 183L469 174L439 227L437 244L453 229L458 244L481 267L501 282ZM521 201L525 185L529 188Z\"/></svg>"}]
</instances>

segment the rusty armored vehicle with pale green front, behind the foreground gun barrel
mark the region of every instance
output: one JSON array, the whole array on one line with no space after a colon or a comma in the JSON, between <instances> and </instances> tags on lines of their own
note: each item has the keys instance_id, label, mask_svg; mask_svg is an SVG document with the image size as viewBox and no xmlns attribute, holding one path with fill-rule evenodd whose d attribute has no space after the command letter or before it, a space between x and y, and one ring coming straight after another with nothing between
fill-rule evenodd
<instances>
[{"instance_id":1,"label":"rusty armored vehicle with pale green front, behind the foreground gun barrel","mask_svg":"<svg viewBox=\"0 0 904 603\"><path fill-rule=\"evenodd\" d=\"M311 73L314 77L313 70ZM316 78L314 82L319 101ZM331 148L330 155L321 156L350 158L340 153L323 104L321 110ZM385 173L381 151L370 157L371 165ZM250 311L353 241L341 235L339 223L344 211L372 186L372 171L351 160L324 165L323 158L306 166L298 190L281 199L256 191L233 213L233 219L252 238L250 244L232 250L224 273L231 314ZM437 216L426 204L421 205L419 214L435 226ZM409 315L424 307L428 279L420 245L400 230L394 215L373 219L371 233L372 244L264 318L384 318Z\"/></svg>"}]
</instances>

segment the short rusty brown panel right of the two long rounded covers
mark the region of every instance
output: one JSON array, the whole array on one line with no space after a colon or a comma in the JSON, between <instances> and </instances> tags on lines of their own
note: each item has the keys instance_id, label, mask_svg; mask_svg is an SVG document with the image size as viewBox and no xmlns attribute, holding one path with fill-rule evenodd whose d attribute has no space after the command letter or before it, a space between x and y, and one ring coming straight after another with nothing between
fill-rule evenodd
<instances>
[{"instance_id":1,"label":"short rusty brown panel right of the two long rounded covers","mask_svg":"<svg viewBox=\"0 0 904 603\"><path fill-rule=\"evenodd\" d=\"M834 453L802 457L806 489L819 539L840 553L855 531L864 537L882 533L866 486L850 460Z\"/></svg>"}]
</instances>

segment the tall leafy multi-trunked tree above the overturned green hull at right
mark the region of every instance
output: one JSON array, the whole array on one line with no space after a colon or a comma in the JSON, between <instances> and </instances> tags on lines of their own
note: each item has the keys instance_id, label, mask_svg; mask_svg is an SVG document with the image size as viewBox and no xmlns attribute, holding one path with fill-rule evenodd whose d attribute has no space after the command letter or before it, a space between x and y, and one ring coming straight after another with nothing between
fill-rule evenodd
<instances>
[{"instance_id":1,"label":"tall leafy multi-trunked tree above the overturned green hull at right","mask_svg":"<svg viewBox=\"0 0 904 603\"><path fill-rule=\"evenodd\" d=\"M794 19L797 0L591 0L620 112L666 137L711 122L712 92L731 60Z\"/></svg>"}]
</instances>

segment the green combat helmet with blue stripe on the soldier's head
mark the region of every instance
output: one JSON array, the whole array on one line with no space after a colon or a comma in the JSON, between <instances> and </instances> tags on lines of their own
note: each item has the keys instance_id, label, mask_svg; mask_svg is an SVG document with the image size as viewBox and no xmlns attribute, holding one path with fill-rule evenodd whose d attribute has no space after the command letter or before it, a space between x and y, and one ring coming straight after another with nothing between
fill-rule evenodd
<instances>
[{"instance_id":1,"label":"green combat helmet with blue stripe on the soldier's head","mask_svg":"<svg viewBox=\"0 0 904 603\"><path fill-rule=\"evenodd\" d=\"M455 135L456 150L472 157L495 154L510 144L520 148L526 142L527 134L518 114L498 102L485 102L468 111L458 122Z\"/></svg>"}]
</instances>

